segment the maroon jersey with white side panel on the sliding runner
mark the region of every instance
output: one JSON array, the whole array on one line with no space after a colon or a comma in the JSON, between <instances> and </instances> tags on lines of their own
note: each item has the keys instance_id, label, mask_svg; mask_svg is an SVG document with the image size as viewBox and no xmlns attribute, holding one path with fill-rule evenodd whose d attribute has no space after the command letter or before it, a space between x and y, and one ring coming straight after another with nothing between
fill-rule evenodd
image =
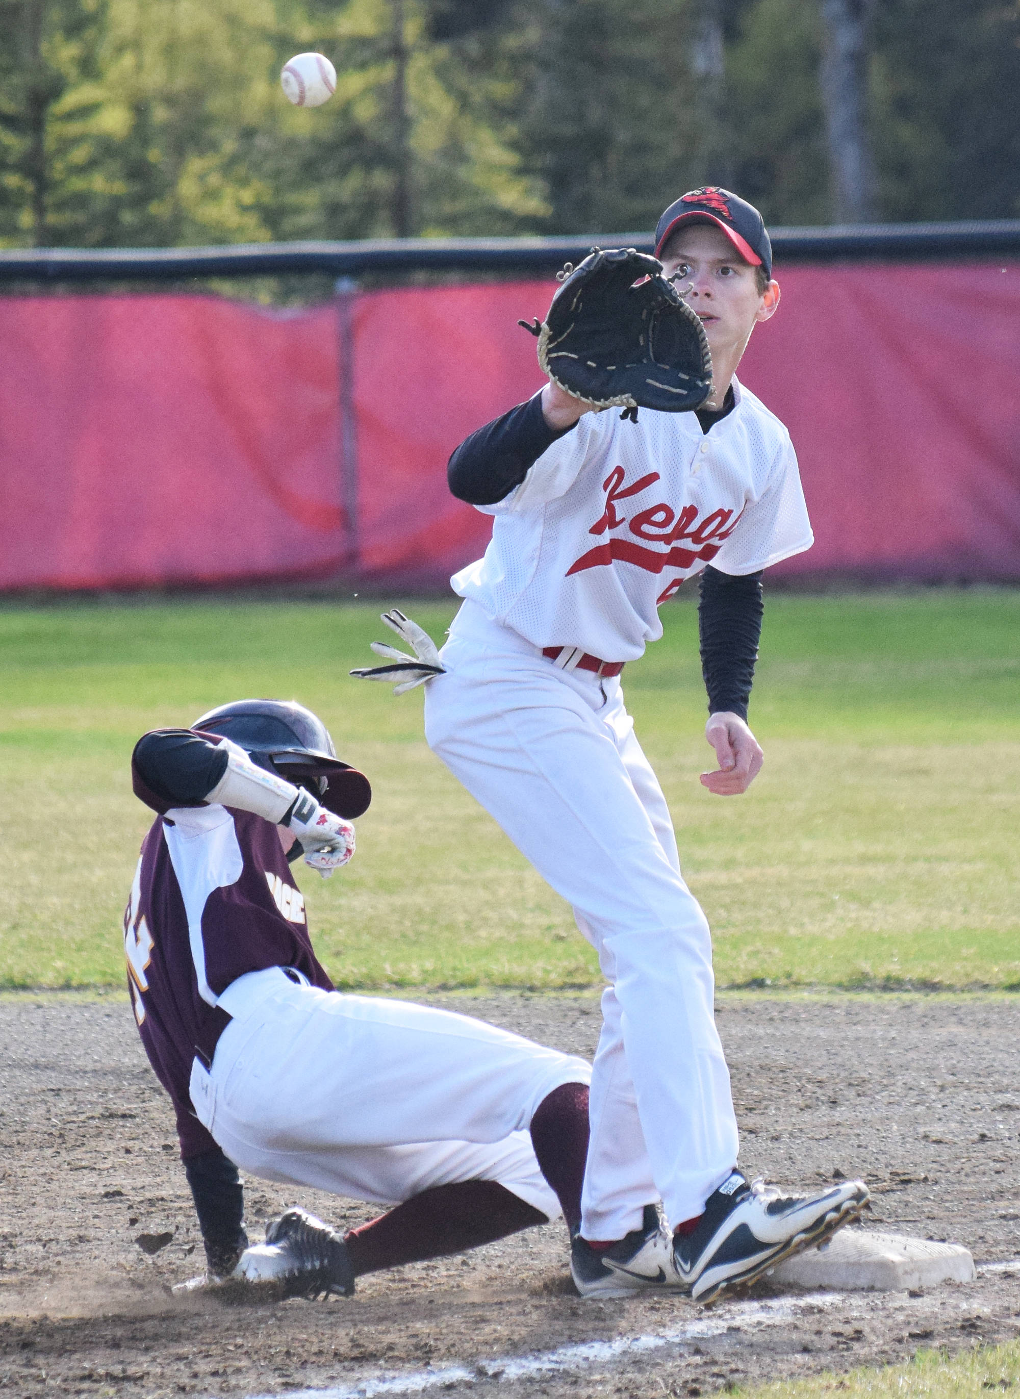
<instances>
[{"instance_id":1,"label":"maroon jersey with white side panel on the sliding runner","mask_svg":"<svg viewBox=\"0 0 1020 1399\"><path fill-rule=\"evenodd\" d=\"M294 967L333 990L319 965L276 827L224 806L171 807L141 846L125 912L127 985L141 1041L173 1100L183 1158L215 1142L194 1116L189 1080L206 1066L229 1016L232 981Z\"/></svg>"}]
</instances>

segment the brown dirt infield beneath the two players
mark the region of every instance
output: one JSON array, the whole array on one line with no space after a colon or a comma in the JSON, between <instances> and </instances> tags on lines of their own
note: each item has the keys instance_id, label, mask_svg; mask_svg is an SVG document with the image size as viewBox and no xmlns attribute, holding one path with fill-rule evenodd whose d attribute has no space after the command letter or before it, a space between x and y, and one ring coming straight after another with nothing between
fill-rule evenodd
<instances>
[{"instance_id":1,"label":"brown dirt infield beneath the two players","mask_svg":"<svg viewBox=\"0 0 1020 1399\"><path fill-rule=\"evenodd\" d=\"M595 1048L593 996L432 1003ZM862 1174L874 1226L967 1244L979 1263L1020 1256L1020 999L733 995L719 999L719 1028L744 1170L786 1185ZM760 1287L708 1312L680 1297L582 1304L562 1226L362 1279L348 1301L178 1300L168 1286L199 1270L201 1247L129 1004L10 997L0 1042L0 1391L11 1395L371 1395L383 1375L396 1377L390 1393L498 1382L520 1395L698 1395L1020 1333L1020 1266L916 1295ZM260 1181L246 1195L253 1237L298 1195L337 1224L367 1217ZM148 1258L140 1234L172 1240ZM557 1349L523 1371L507 1358Z\"/></svg>"}]
</instances>

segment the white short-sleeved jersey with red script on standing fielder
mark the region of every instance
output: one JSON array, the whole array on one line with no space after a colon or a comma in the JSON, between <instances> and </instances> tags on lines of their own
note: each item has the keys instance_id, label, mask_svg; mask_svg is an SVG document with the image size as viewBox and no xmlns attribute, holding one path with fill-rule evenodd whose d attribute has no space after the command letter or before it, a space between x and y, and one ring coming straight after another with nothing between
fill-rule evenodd
<instances>
[{"instance_id":1,"label":"white short-sleeved jersey with red script on standing fielder","mask_svg":"<svg viewBox=\"0 0 1020 1399\"><path fill-rule=\"evenodd\" d=\"M534 646L637 660L662 637L659 603L709 562L753 574L810 548L789 432L736 379L733 395L708 434L693 413L586 413L476 506L493 539L453 592Z\"/></svg>"}]
</instances>

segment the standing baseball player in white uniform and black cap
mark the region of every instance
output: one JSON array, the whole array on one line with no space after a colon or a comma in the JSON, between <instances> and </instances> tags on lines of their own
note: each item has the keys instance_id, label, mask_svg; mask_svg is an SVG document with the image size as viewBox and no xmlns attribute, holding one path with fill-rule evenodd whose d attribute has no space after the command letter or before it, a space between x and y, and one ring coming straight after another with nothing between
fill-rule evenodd
<instances>
[{"instance_id":1,"label":"standing baseball player in white uniform and black cap","mask_svg":"<svg viewBox=\"0 0 1020 1399\"><path fill-rule=\"evenodd\" d=\"M709 792L761 767L747 726L761 571L812 544L789 434L736 379L779 305L761 215L722 189L659 220L665 274L690 285L714 392L697 413L595 413L555 383L463 442L453 494L493 516L425 691L432 750L574 908L607 988L572 1272L582 1295L687 1286L712 1300L830 1237L867 1191L781 1196L736 1170L705 916L680 873L662 789L620 672L662 635L659 604L701 575ZM662 1200L672 1227L646 1227Z\"/></svg>"}]
</instances>

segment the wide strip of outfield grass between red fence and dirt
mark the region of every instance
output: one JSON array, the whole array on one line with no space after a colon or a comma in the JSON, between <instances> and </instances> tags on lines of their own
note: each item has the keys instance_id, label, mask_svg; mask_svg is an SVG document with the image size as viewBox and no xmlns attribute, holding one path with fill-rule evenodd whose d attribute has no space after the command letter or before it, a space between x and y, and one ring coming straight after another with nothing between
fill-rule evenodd
<instances>
[{"instance_id":1,"label":"wide strip of outfield grass between red fence and dirt","mask_svg":"<svg viewBox=\"0 0 1020 1399\"><path fill-rule=\"evenodd\" d=\"M452 607L407 604L434 635ZM146 809L130 750L249 694L295 697L372 779L358 856L302 876L344 986L597 979L569 911L432 758L421 695L348 679L376 604L0 610L0 986L116 983ZM1020 985L1020 593L770 599L765 769L709 796L697 616L628 667L721 985Z\"/></svg>"}]
</instances>

